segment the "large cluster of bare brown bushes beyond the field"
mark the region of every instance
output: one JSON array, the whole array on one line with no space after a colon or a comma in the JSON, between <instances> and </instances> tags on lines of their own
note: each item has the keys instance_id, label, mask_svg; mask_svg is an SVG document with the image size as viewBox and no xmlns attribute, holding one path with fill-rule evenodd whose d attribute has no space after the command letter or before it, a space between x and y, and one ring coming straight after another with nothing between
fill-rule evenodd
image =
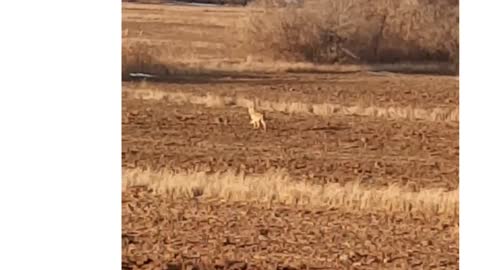
<instances>
[{"instance_id":1,"label":"large cluster of bare brown bushes beyond the field","mask_svg":"<svg viewBox=\"0 0 480 270\"><path fill-rule=\"evenodd\" d=\"M313 4L309 4L313 3ZM315 63L449 62L458 72L457 4L437 1L325 0L307 8L251 9L246 49Z\"/></svg>"}]
</instances>

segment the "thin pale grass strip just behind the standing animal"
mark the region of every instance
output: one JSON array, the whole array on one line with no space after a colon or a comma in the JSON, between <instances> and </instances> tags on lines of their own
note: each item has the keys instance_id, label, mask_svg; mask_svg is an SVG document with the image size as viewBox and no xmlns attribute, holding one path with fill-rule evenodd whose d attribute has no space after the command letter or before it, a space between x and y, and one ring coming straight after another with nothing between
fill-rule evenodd
<instances>
[{"instance_id":1,"label":"thin pale grass strip just behind the standing animal","mask_svg":"<svg viewBox=\"0 0 480 270\"><path fill-rule=\"evenodd\" d=\"M248 107L253 101L243 97L222 97L213 94L204 96L193 95L182 92L165 92L161 90L152 89L135 89L129 90L133 98L138 99L152 99L152 100L166 100L178 104L190 103L197 105L205 105L208 107L226 107L226 106L241 106ZM387 119L408 119L408 120L425 120L433 122L458 122L459 110L458 106L451 109L434 108L422 109L408 107L378 107L378 106L342 106L338 104L308 104L302 102L281 101L274 102L268 100L259 100L258 109L270 112L283 113L300 113L313 114L319 116L329 115L357 115L379 117Z\"/></svg>"}]
</instances>

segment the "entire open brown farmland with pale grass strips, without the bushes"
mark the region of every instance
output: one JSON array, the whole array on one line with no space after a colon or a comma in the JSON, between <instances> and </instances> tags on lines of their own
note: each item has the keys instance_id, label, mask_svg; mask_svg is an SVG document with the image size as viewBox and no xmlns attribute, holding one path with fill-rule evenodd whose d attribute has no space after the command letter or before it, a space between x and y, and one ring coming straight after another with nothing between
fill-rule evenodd
<instances>
[{"instance_id":1,"label":"entire open brown farmland with pale grass strips, without the bushes","mask_svg":"<svg viewBox=\"0 0 480 270\"><path fill-rule=\"evenodd\" d=\"M457 77L257 61L251 12L123 4L123 269L458 269Z\"/></svg>"}]
</instances>

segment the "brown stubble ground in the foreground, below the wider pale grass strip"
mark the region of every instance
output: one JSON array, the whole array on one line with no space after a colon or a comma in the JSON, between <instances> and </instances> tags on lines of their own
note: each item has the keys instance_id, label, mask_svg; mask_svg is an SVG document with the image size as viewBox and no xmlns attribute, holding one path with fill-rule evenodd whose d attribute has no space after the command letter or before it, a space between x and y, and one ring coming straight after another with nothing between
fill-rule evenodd
<instances>
[{"instance_id":1,"label":"brown stubble ground in the foreground, below the wider pale grass strip","mask_svg":"<svg viewBox=\"0 0 480 270\"><path fill-rule=\"evenodd\" d=\"M440 218L167 201L130 187L123 269L458 269L458 237Z\"/></svg>"}]
</instances>

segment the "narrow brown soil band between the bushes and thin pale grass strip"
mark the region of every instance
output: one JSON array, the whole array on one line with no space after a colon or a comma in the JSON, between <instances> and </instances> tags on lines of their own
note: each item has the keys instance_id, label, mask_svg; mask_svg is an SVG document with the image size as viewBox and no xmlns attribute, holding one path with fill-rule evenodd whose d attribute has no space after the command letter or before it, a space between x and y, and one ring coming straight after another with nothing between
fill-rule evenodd
<instances>
[{"instance_id":1,"label":"narrow brown soil band between the bushes and thin pale grass strip","mask_svg":"<svg viewBox=\"0 0 480 270\"><path fill-rule=\"evenodd\" d=\"M220 77L219 77L220 76ZM211 93L262 100L332 103L345 106L458 108L458 80L452 77L354 74L243 74L183 77L149 84L169 92ZM124 87L138 88L137 83ZM200 90L201 89L201 90Z\"/></svg>"}]
</instances>

